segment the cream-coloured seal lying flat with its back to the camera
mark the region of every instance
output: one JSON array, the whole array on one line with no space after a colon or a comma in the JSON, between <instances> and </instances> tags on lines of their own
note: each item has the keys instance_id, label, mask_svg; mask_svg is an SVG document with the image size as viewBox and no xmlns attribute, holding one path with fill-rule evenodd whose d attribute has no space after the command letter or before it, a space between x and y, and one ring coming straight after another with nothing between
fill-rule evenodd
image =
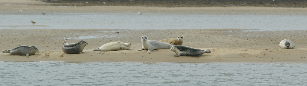
<instances>
[{"instance_id":1,"label":"cream-coloured seal lying flat with its back to the camera","mask_svg":"<svg viewBox=\"0 0 307 86\"><path fill-rule=\"evenodd\" d=\"M102 45L99 48L96 48L92 51L116 51L116 50L128 50L131 46L131 43L123 43L120 41L117 42L110 42L107 44Z\"/></svg>"}]
</instances>

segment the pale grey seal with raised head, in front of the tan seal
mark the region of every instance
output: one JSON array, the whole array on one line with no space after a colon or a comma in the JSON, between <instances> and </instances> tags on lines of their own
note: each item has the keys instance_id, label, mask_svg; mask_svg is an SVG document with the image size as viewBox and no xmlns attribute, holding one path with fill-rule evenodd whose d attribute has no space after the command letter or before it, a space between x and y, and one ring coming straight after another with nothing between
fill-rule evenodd
<instances>
[{"instance_id":1,"label":"pale grey seal with raised head, in front of the tan seal","mask_svg":"<svg viewBox=\"0 0 307 86\"><path fill-rule=\"evenodd\" d=\"M148 40L147 36L142 36L141 41L142 41L142 49L139 49L136 51L148 50L147 52L151 52L152 50L156 50L156 49L170 49L173 46L169 43L165 43L161 41Z\"/></svg>"}]
</instances>

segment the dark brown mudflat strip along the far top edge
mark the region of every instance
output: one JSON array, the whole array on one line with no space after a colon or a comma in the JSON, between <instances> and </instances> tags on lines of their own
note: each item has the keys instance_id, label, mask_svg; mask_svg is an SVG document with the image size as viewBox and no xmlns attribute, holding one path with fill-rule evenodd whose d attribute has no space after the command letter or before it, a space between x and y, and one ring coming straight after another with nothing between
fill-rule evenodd
<instances>
[{"instance_id":1,"label":"dark brown mudflat strip along the far top edge","mask_svg":"<svg viewBox=\"0 0 307 86\"><path fill-rule=\"evenodd\" d=\"M307 7L305 0L46 0L56 6L156 6L156 7ZM87 2L87 3L86 3Z\"/></svg>"}]
</instances>

